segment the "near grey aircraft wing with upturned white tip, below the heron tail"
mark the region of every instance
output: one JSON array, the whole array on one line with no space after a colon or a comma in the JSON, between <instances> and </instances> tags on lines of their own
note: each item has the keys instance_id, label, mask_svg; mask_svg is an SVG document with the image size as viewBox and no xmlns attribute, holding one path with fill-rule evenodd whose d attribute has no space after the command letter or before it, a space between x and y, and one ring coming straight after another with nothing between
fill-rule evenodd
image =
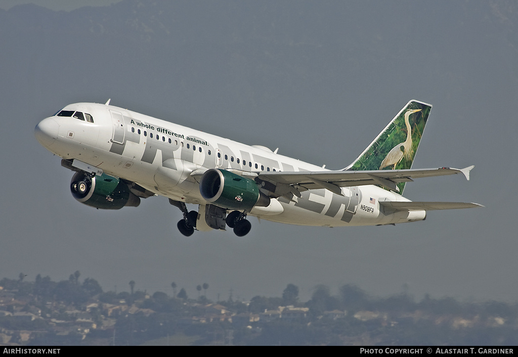
<instances>
[{"instance_id":1,"label":"near grey aircraft wing with upturned white tip, below the heron tail","mask_svg":"<svg viewBox=\"0 0 518 357\"><path fill-rule=\"evenodd\" d=\"M445 176L462 173L469 180L469 172L474 166L463 169L439 167L405 170L370 171L319 171L319 172L260 172L258 179L286 185L297 185L307 190L328 189L341 194L340 187L379 184L393 191L399 191L397 183L413 181L415 178Z\"/></svg>"}]
</instances>

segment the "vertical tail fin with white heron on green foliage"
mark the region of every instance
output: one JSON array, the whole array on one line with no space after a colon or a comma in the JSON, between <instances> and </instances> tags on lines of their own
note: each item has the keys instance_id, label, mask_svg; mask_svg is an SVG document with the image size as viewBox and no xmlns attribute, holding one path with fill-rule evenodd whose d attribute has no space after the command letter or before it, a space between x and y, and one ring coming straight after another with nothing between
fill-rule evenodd
<instances>
[{"instance_id":1,"label":"vertical tail fin with white heron on green foliage","mask_svg":"<svg viewBox=\"0 0 518 357\"><path fill-rule=\"evenodd\" d=\"M346 170L409 169L418 149L431 105L410 101ZM402 194L405 182L397 184Z\"/></svg>"}]
</instances>

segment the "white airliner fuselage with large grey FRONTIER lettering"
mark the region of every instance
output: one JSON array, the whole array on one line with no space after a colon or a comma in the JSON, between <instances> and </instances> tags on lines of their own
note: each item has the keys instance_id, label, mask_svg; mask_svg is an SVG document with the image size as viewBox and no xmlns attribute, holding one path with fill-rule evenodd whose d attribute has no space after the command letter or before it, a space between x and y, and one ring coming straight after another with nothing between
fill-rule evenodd
<instances>
[{"instance_id":1,"label":"white airliner fuselage with large grey FRONTIER lettering","mask_svg":"<svg viewBox=\"0 0 518 357\"><path fill-rule=\"evenodd\" d=\"M89 113L93 122L58 116L42 120L36 126L36 137L49 151L186 204L208 204L200 194L196 175L191 175L196 170L325 170L264 147L244 145L110 105L77 103L63 110ZM375 185L341 188L341 192L343 196L326 189L304 191L302 197L289 194L273 198L275 203L269 207L254 207L250 214L312 226L393 224L425 218L425 211L384 211L380 201L409 200Z\"/></svg>"}]
</instances>

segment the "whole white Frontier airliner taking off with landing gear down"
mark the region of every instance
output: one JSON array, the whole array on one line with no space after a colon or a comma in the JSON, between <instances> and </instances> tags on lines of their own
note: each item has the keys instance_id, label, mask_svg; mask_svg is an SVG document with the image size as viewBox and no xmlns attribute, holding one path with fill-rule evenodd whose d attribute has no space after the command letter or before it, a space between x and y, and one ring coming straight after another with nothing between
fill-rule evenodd
<instances>
[{"instance_id":1,"label":"whole white Frontier airliner taking off with landing gear down","mask_svg":"<svg viewBox=\"0 0 518 357\"><path fill-rule=\"evenodd\" d=\"M177 227L185 236L227 226L244 236L251 230L247 216L309 226L394 225L424 220L428 210L482 207L402 196L416 178L462 174L469 180L474 167L411 168L430 110L429 104L408 102L339 170L112 106L110 100L67 105L41 120L35 136L75 172L70 191L85 205L137 207L142 198L160 195L181 210Z\"/></svg>"}]
</instances>

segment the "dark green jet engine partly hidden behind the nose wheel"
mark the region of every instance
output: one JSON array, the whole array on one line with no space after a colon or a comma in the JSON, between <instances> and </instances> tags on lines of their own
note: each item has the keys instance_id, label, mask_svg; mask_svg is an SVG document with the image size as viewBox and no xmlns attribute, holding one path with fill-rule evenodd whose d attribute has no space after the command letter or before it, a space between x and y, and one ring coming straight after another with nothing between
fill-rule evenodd
<instances>
[{"instance_id":1,"label":"dark green jet engine partly hidden behind the nose wheel","mask_svg":"<svg viewBox=\"0 0 518 357\"><path fill-rule=\"evenodd\" d=\"M120 209L140 204L140 198L130 191L126 183L104 173L92 178L82 172L74 174L70 192L77 201L95 208Z\"/></svg>"}]
</instances>

